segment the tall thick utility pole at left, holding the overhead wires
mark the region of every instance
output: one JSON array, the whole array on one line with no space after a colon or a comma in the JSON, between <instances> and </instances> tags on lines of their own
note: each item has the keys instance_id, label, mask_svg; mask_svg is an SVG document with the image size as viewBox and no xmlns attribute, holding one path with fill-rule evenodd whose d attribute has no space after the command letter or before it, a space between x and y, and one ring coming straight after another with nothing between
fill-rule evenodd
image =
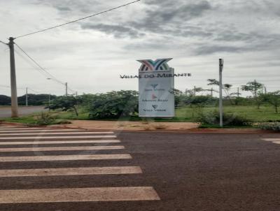
<instances>
[{"instance_id":1,"label":"tall thick utility pole at left, holding the overhead wires","mask_svg":"<svg viewBox=\"0 0 280 211\"><path fill-rule=\"evenodd\" d=\"M14 39L9 38L8 46L10 48L10 99L11 99L11 117L18 117L18 94L17 94L17 79L15 77L15 50Z\"/></svg>"}]
</instances>

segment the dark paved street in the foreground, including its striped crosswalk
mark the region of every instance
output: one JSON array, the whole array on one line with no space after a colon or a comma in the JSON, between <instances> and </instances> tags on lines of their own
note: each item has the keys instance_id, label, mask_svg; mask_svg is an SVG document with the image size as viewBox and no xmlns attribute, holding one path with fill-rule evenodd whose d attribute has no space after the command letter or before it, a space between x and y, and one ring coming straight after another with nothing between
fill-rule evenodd
<instances>
[{"instance_id":1,"label":"dark paved street in the foreground, including its striped crosswalk","mask_svg":"<svg viewBox=\"0 0 280 211\"><path fill-rule=\"evenodd\" d=\"M280 210L280 136L0 126L0 210Z\"/></svg>"}]
</instances>

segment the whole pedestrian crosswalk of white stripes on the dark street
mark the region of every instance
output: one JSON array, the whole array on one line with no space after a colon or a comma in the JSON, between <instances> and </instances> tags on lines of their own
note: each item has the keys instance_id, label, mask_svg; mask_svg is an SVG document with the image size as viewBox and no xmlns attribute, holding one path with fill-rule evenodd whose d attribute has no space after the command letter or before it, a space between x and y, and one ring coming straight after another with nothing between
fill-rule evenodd
<instances>
[{"instance_id":1,"label":"whole pedestrian crosswalk of white stripes on the dark street","mask_svg":"<svg viewBox=\"0 0 280 211\"><path fill-rule=\"evenodd\" d=\"M118 164L122 160L131 163L133 157L125 152L125 146L120 145L121 141L116 138L112 131L0 125L0 165L6 166L0 169L0 177L19 177L21 180L29 177L34 179L52 177L55 185L55 180L61 177L65 180L71 177L72 182L76 180L78 183L83 176L92 177L94 180L97 176L110 175L114 180L113 178L117 179L118 175L133 178L135 175L143 174L139 166ZM58 162L59 165L54 166L53 162ZM94 166L97 162L100 162L99 165ZM102 165L102 162L107 164ZM108 165L110 162L114 164ZM32 168L32 163L35 168ZM83 166L83 163L87 163L87 166ZM30 185L24 186L25 188L18 187L18 183L10 184L10 189L0 187L0 204L160 200L153 187L143 184L118 186L118 180L113 183L113 187L110 185L97 187L97 184L86 183L82 188L80 186L38 188L36 184L32 185L32 180L28 180L27 184ZM48 187L49 184L45 185Z\"/></svg>"}]
</instances>

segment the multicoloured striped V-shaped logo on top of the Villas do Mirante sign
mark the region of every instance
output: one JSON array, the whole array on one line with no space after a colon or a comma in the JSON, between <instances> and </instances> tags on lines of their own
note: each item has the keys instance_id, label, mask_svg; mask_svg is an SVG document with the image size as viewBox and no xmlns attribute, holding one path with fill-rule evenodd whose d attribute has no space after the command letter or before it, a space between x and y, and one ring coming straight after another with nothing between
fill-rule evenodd
<instances>
[{"instance_id":1,"label":"multicoloured striped V-shaped logo on top of the Villas do Mirante sign","mask_svg":"<svg viewBox=\"0 0 280 211\"><path fill-rule=\"evenodd\" d=\"M167 64L168 61L172 60L169 59L157 59L153 61L152 59L144 59L144 60L137 60L139 61L142 66L140 67L140 72L145 71L169 71L169 65Z\"/></svg>"}]
</instances>

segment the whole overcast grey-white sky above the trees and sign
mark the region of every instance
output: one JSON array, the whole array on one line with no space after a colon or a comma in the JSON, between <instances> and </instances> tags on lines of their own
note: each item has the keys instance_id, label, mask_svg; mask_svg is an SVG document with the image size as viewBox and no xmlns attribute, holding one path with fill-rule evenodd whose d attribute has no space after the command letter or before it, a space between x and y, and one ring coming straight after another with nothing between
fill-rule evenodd
<instances>
[{"instance_id":1,"label":"whole overcast grey-white sky above the trees and sign","mask_svg":"<svg viewBox=\"0 0 280 211\"><path fill-rule=\"evenodd\" d=\"M130 0L0 0L0 40L7 42ZM280 89L279 0L141 0L113 12L15 40L43 68L78 93L138 89L137 59L174 58L169 65L192 78L176 88L207 87L218 78L237 87L258 80L268 91ZM18 94L64 94L15 48ZM10 94L9 51L0 43L0 94ZM244 95L246 95L244 93Z\"/></svg>"}]
</instances>

